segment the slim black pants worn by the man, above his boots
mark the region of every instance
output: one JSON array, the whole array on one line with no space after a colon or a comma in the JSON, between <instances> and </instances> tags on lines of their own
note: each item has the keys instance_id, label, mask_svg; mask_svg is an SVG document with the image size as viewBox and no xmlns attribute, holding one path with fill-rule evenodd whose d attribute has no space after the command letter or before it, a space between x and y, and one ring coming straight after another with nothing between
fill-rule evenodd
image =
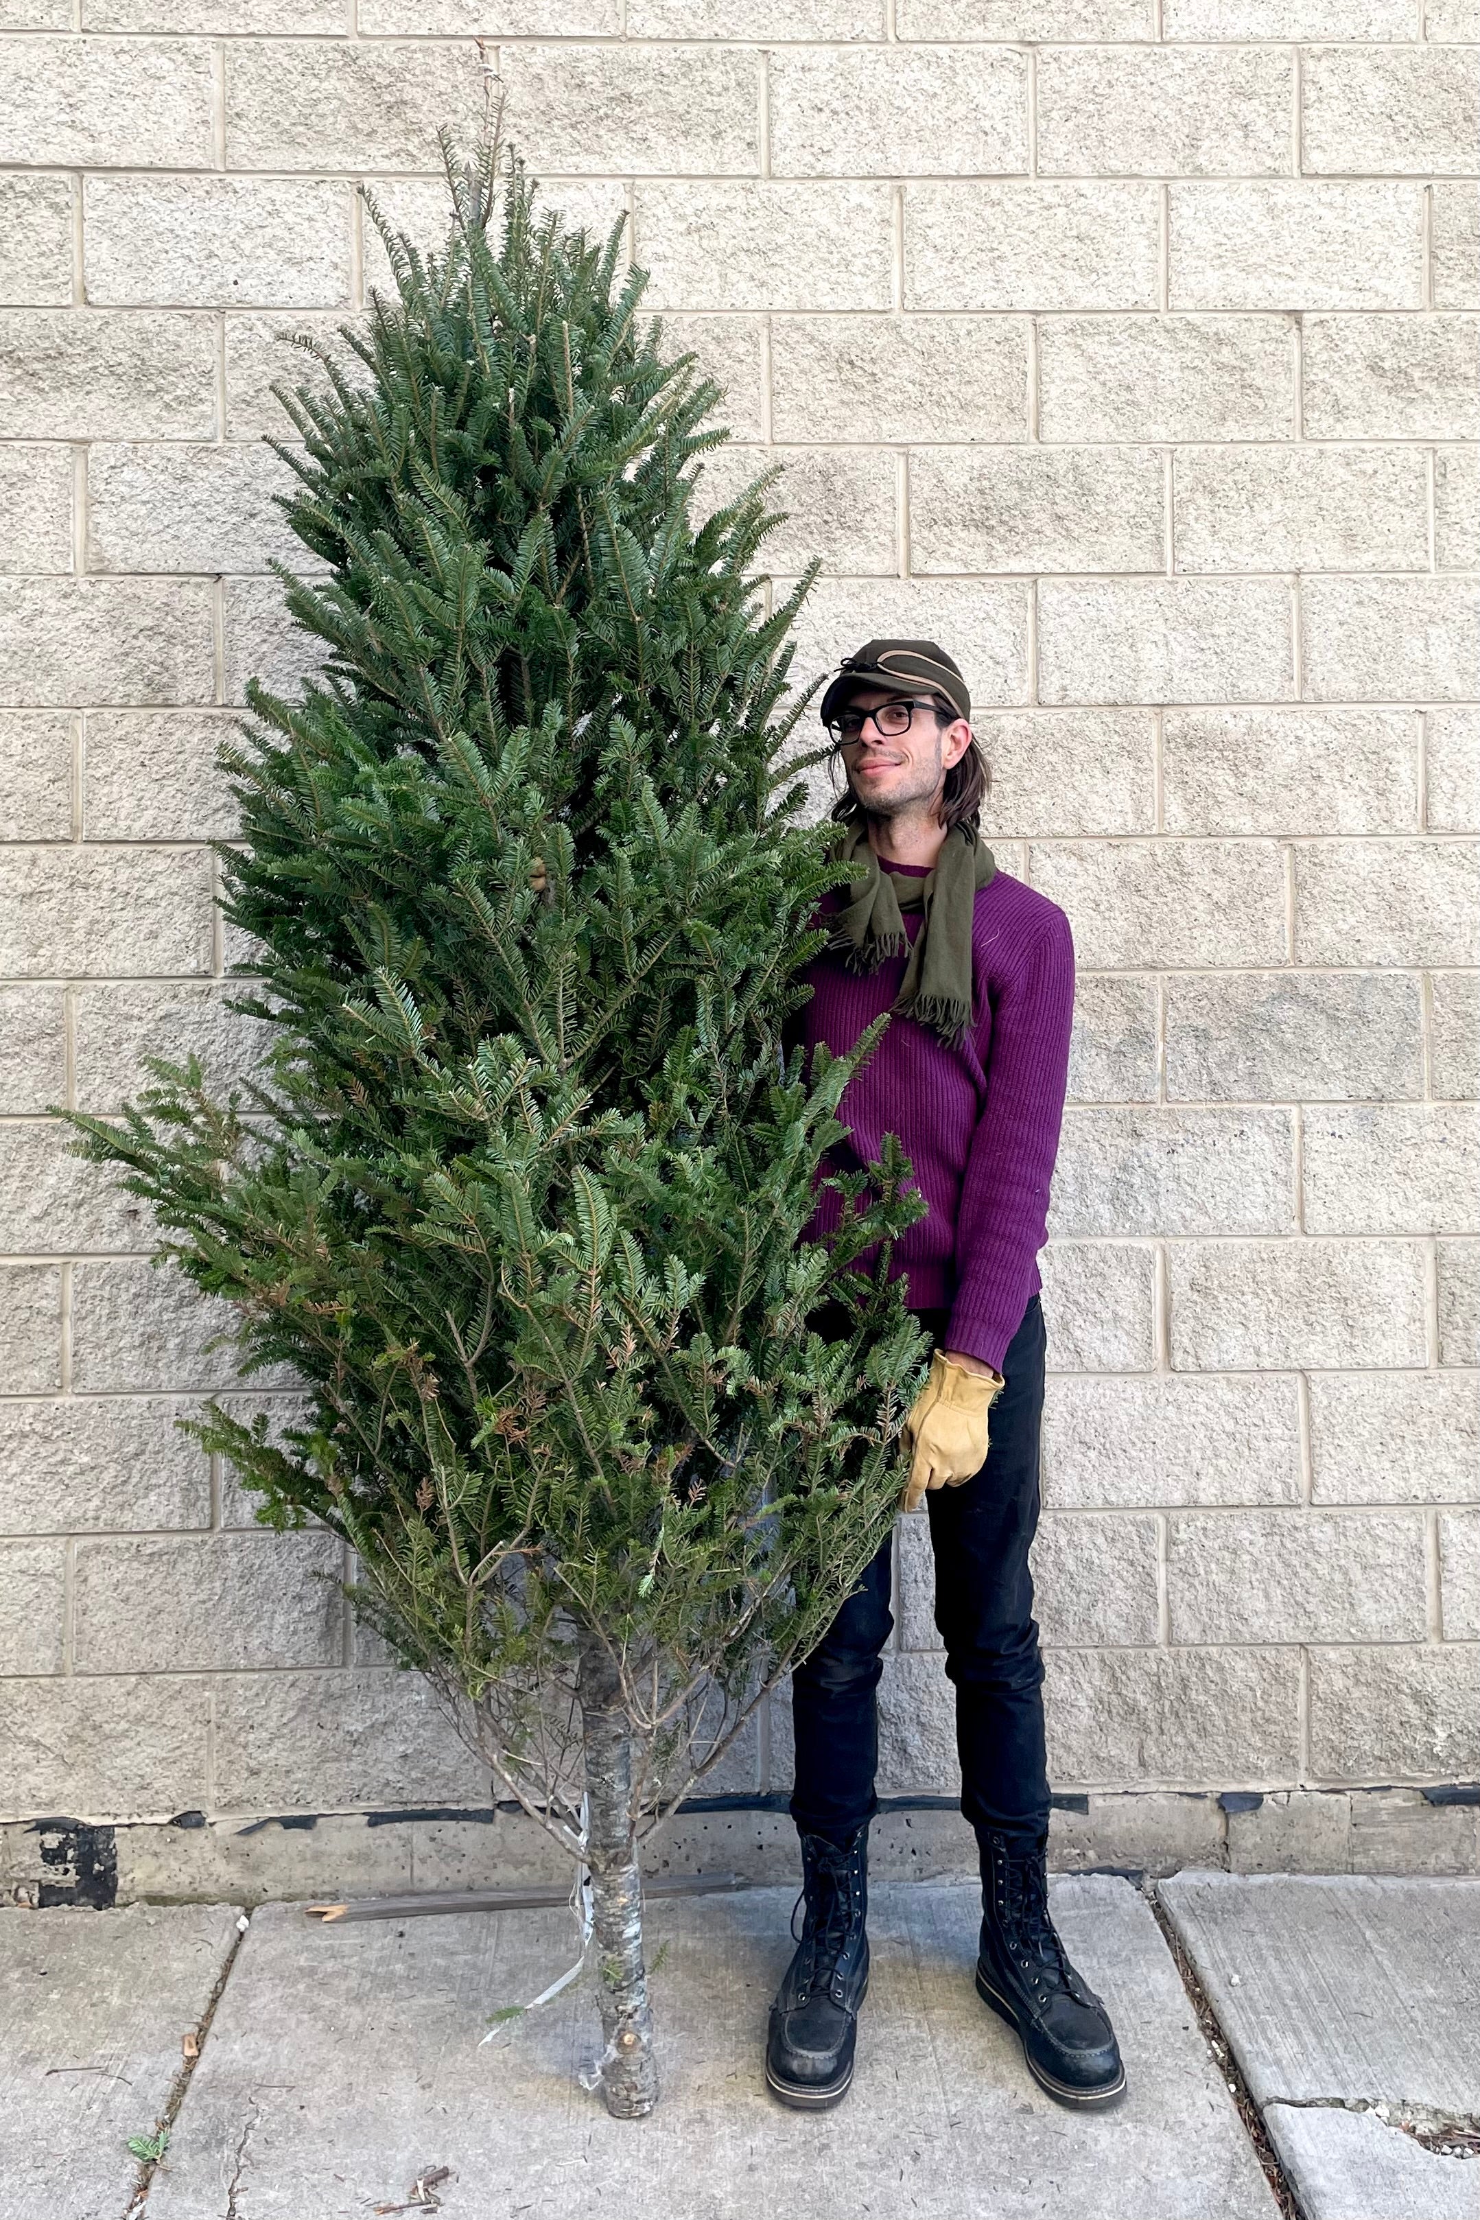
<instances>
[{"instance_id":1,"label":"slim black pants worn by the man, above his boots","mask_svg":"<svg viewBox=\"0 0 1480 2220\"><path fill-rule=\"evenodd\" d=\"M923 1310L936 1343L950 1314ZM1043 1658L1032 1616L1027 1545L1038 1525L1038 1427L1045 1332L1038 1296L1023 1314L992 1405L987 1461L961 1487L925 1496L936 1572L936 1627L945 1676L956 1687L961 1809L1027 1847L1047 1834ZM890 1543L792 1674L797 1785L792 1818L803 1834L848 1840L879 1803L876 1687L890 1614Z\"/></svg>"}]
</instances>

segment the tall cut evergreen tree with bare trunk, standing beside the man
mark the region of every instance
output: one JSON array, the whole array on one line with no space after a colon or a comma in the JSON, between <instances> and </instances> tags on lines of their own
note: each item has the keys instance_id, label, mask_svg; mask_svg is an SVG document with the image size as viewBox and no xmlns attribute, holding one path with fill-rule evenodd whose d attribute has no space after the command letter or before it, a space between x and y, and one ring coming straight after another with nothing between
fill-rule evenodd
<instances>
[{"instance_id":1,"label":"tall cut evergreen tree with bare trunk, standing beside the man","mask_svg":"<svg viewBox=\"0 0 1480 2220\"><path fill-rule=\"evenodd\" d=\"M353 375L315 349L280 391L326 668L253 686L226 753L260 1083L155 1063L78 1123L246 1370L304 1381L302 1423L213 1405L200 1441L264 1523L353 1545L357 1610L588 1867L604 2093L639 2116L637 1845L890 1527L921 1205L892 1150L803 1241L872 1046L805 1074L783 1043L837 881L785 708L810 579L763 613L763 482L695 522L719 395L619 235L493 153L448 178L444 253L386 233Z\"/></svg>"}]
</instances>

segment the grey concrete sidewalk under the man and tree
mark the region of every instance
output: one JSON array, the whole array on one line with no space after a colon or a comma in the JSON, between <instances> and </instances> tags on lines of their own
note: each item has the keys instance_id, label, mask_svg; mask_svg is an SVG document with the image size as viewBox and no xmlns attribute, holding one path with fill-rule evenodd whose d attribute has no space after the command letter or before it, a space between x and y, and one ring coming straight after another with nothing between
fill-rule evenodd
<instances>
[{"instance_id":1,"label":"grey concrete sidewalk under the man and tree","mask_svg":"<svg viewBox=\"0 0 1480 2220\"><path fill-rule=\"evenodd\" d=\"M1480 1883L1180 1874L1160 1894L1305 2220L1480 2220L1480 2158L1458 2156L1480 2153ZM859 2071L823 2116L761 2078L792 1891L652 1903L663 2096L639 2125L581 2089L586 1985L481 2042L568 1965L564 1911L0 1911L0 2216L1276 2220L1147 1900L1105 1874L1052 1900L1121 2031L1107 2113L1052 2105L976 2000L970 1885L874 1891ZM129 2138L160 2120L140 2198Z\"/></svg>"}]
</instances>

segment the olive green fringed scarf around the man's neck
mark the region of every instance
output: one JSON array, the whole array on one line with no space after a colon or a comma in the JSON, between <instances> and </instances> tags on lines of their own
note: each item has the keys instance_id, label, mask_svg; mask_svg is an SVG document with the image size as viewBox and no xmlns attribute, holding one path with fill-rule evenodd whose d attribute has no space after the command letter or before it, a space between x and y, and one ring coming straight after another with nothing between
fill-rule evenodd
<instances>
[{"instance_id":1,"label":"olive green fringed scarf around the man's neck","mask_svg":"<svg viewBox=\"0 0 1480 2220\"><path fill-rule=\"evenodd\" d=\"M972 1021L972 908L976 890L996 872L992 850L974 833L956 826L927 879L896 879L879 868L863 826L850 826L839 844L839 859L850 864L850 884L841 892L832 946L845 950L848 970L879 970L888 957L903 957L905 977L894 997L894 1012L930 1026L947 1048L954 1048ZM905 935L903 910L923 910L914 948Z\"/></svg>"}]
</instances>

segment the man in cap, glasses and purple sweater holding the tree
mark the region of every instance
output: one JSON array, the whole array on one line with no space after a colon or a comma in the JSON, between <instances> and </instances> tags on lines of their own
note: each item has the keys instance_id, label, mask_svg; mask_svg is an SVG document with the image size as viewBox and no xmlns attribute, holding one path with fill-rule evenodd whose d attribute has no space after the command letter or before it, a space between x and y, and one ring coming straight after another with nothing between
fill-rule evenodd
<instances>
[{"instance_id":1,"label":"man in cap, glasses and purple sweater holding the tree","mask_svg":"<svg viewBox=\"0 0 1480 2220\"><path fill-rule=\"evenodd\" d=\"M848 1168L899 1141L930 1203L894 1270L927 1328L930 1381L908 1421L903 1507L925 1503L936 1627L956 1687L961 1809L981 1845L976 1989L1067 2105L1125 2087L1098 1996L1047 1911L1043 1663L1027 1547L1038 1521L1045 1332L1036 1254L1058 1150L1074 946L1063 910L1010 879L979 839L987 775L961 670L930 639L870 639L823 695L848 790L834 808L850 884L825 899L832 944L810 970L808 1052L834 1054L892 1010L839 1117ZM814 1228L837 1212L828 1197ZM785 2105L837 2105L868 1989L868 1827L876 1698L890 1638L890 1545L797 1667L805 1927L770 2011L766 2078Z\"/></svg>"}]
</instances>

